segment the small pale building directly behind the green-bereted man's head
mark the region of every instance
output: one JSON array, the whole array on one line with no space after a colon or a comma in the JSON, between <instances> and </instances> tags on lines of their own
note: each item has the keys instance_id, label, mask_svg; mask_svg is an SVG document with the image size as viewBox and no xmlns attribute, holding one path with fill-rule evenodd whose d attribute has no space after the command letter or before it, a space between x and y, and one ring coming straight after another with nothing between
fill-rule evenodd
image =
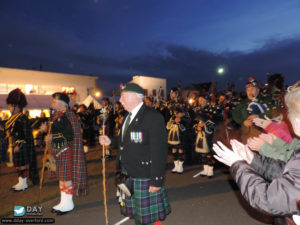
<instances>
[{"instance_id":1,"label":"small pale building directly behind the green-bereted man's head","mask_svg":"<svg viewBox=\"0 0 300 225\"><path fill-rule=\"evenodd\" d=\"M167 80L158 77L135 75L132 81L145 89L145 96L167 98Z\"/></svg>"}]
</instances>

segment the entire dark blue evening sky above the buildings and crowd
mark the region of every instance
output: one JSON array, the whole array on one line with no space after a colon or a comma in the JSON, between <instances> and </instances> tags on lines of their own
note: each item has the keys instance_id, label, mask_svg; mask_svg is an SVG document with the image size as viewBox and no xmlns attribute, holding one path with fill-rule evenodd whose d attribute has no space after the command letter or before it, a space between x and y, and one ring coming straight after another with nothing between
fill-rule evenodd
<instances>
[{"instance_id":1,"label":"entire dark blue evening sky above the buildings and crowd","mask_svg":"<svg viewBox=\"0 0 300 225\"><path fill-rule=\"evenodd\" d=\"M242 88L268 72L292 84L299 12L298 0L2 0L0 66L93 74L106 93L135 74L167 78L169 87Z\"/></svg>"}]
</instances>

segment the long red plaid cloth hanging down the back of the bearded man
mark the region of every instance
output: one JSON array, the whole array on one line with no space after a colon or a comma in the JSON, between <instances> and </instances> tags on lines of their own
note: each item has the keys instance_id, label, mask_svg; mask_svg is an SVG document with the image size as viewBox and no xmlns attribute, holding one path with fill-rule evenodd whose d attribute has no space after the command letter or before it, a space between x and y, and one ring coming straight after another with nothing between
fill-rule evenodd
<instances>
[{"instance_id":1,"label":"long red plaid cloth hanging down the back of the bearded man","mask_svg":"<svg viewBox=\"0 0 300 225\"><path fill-rule=\"evenodd\" d=\"M87 169L82 146L81 126L76 115L68 110L66 112L67 118L70 121L73 129L73 141L70 143L72 149L72 182L74 187L74 194L87 194Z\"/></svg>"}]
</instances>

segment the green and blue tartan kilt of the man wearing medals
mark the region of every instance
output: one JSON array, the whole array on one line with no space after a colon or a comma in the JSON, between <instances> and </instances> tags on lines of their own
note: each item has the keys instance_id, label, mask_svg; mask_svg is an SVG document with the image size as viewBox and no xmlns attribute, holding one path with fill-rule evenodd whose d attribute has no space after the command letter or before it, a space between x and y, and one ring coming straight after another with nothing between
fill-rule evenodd
<instances>
[{"instance_id":1,"label":"green and blue tartan kilt of the man wearing medals","mask_svg":"<svg viewBox=\"0 0 300 225\"><path fill-rule=\"evenodd\" d=\"M134 217L142 224L164 220L171 212L166 187L163 184L156 193L149 192L150 179L132 178L134 194L125 196L121 213Z\"/></svg>"}]
</instances>

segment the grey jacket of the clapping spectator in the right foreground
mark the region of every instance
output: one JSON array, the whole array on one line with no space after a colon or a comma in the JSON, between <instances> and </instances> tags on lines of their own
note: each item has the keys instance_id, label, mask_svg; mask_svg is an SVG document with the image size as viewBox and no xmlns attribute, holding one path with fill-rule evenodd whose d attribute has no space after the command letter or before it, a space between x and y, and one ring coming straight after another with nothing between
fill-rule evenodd
<instances>
[{"instance_id":1,"label":"grey jacket of the clapping spectator in the right foreground","mask_svg":"<svg viewBox=\"0 0 300 225\"><path fill-rule=\"evenodd\" d=\"M299 165L300 141L287 163L255 154L251 165L238 161L230 171L252 207L274 216L290 217L299 212Z\"/></svg>"}]
</instances>

